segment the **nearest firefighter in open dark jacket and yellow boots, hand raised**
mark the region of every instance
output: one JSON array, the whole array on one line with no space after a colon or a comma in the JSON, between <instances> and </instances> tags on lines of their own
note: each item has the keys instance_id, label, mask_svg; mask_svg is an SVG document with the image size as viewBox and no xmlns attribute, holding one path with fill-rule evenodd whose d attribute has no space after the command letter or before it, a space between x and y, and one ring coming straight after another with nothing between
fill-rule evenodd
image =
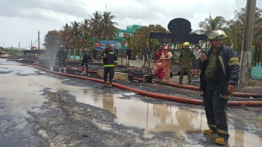
<instances>
[{"instance_id":1,"label":"nearest firefighter in open dark jacket and yellow boots, hand raised","mask_svg":"<svg viewBox=\"0 0 262 147\"><path fill-rule=\"evenodd\" d=\"M200 95L206 112L209 130L204 134L218 133L215 143L226 144L228 135L227 101L239 80L239 60L234 50L223 44L227 35L213 30L208 36L211 48L197 61L200 74Z\"/></svg>"}]
</instances>

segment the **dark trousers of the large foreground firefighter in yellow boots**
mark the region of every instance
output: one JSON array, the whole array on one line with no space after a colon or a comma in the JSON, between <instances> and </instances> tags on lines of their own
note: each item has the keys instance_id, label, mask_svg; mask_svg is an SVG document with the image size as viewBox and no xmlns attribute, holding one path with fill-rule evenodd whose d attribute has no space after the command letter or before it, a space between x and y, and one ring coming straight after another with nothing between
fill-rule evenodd
<instances>
[{"instance_id":1,"label":"dark trousers of the large foreground firefighter in yellow boots","mask_svg":"<svg viewBox=\"0 0 262 147\"><path fill-rule=\"evenodd\" d=\"M220 97L218 79L206 79L203 102L208 127L218 133L218 137L228 139L227 101Z\"/></svg>"}]
</instances>

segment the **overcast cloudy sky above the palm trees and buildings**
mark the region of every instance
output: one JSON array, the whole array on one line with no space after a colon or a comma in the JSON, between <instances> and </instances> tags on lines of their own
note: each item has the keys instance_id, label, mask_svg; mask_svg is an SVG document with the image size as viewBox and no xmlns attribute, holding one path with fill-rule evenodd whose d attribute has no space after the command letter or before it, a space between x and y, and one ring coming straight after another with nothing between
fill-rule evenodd
<instances>
[{"instance_id":1,"label":"overcast cloudy sky above the palm trees and buildings","mask_svg":"<svg viewBox=\"0 0 262 147\"><path fill-rule=\"evenodd\" d=\"M167 29L169 21L175 18L189 20L191 29L197 30L198 23L209 14L228 21L238 7L246 7L246 0L1 0L0 45L18 47L20 42L21 47L29 47L31 40L37 40L38 30L44 43L49 30L61 30L65 23L90 19L95 11L112 12L116 16L113 21L124 30L138 24L159 24ZM256 7L262 9L261 0L256 0Z\"/></svg>"}]
</instances>

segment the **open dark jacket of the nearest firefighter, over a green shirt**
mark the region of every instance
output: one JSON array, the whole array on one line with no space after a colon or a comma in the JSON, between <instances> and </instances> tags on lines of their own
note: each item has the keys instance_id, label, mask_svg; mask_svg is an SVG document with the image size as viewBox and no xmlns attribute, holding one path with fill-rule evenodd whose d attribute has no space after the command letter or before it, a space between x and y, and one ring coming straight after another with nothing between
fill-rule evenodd
<instances>
[{"instance_id":1,"label":"open dark jacket of the nearest firefighter, over a green shirt","mask_svg":"<svg viewBox=\"0 0 262 147\"><path fill-rule=\"evenodd\" d=\"M201 96L203 96L204 94L203 89L205 86L205 67L207 63L206 61L208 60L212 52L213 46L205 52L207 59L204 62L201 62L200 58L197 60L197 64L199 66L199 69L201 70L199 87L199 92ZM240 72L239 60L236 57L236 53L234 52L234 50L228 46L224 46L224 44L222 44L217 49L216 58L218 62L218 70L216 72L216 75L218 77L220 97L229 99L231 94L228 93L227 90L228 84L234 86L238 85Z\"/></svg>"}]
</instances>

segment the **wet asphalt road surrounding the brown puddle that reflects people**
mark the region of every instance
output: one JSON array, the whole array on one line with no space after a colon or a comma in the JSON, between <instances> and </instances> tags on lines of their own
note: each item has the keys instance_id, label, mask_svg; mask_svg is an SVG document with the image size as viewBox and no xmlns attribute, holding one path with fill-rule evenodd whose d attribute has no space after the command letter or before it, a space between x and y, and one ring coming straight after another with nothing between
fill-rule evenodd
<instances>
[{"instance_id":1,"label":"wet asphalt road surrounding the brown puddle that reflects people","mask_svg":"<svg viewBox=\"0 0 262 147\"><path fill-rule=\"evenodd\" d=\"M15 63L0 60L10 64ZM186 137L172 131L165 131L152 133L154 135L152 138L145 138L144 129L116 123L114 120L117 119L117 115L105 109L79 103L75 96L69 94L70 90L57 87L88 86L92 88L91 90L100 90L102 94L127 93L127 91L114 87L105 88L101 83L92 81L49 74L32 67L0 66L0 69L0 146L217 146L214 143L216 136L205 137L202 130L198 132L188 130L185 133ZM139 95L125 96L122 99L134 98L147 103L179 106L192 112L196 111L194 109L203 110L202 106L148 99ZM259 123L261 113L251 113L252 111L260 111L260 107L229 108L230 125L237 128L234 132L239 131L239 134L244 133L253 138L236 139L241 138L237 133L235 137L231 137L232 141L229 141L226 146L262 144L262 127ZM90 133L90 136L84 137L83 133ZM243 138L246 137L244 135Z\"/></svg>"}]
</instances>

